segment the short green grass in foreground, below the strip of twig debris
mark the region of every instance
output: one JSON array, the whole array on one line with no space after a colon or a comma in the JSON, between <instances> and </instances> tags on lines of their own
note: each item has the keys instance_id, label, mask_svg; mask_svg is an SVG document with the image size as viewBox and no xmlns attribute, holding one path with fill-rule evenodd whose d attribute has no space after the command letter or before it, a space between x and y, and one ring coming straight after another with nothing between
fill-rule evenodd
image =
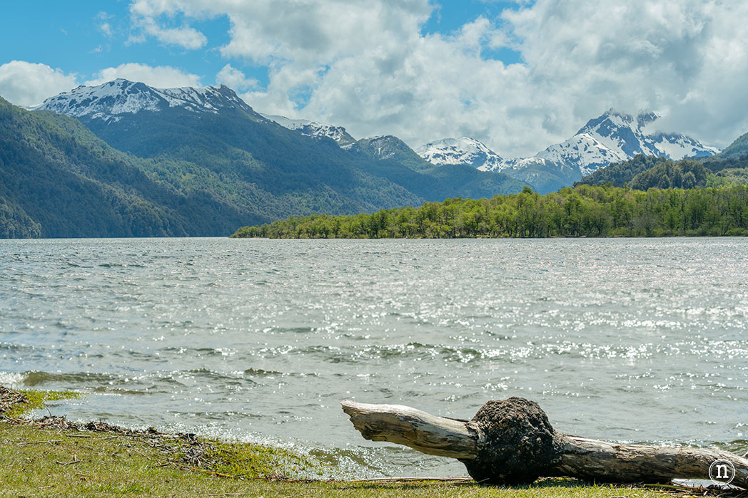
<instances>
[{"instance_id":1,"label":"short green grass in foreground, below the strip of twig debris","mask_svg":"<svg viewBox=\"0 0 748 498\"><path fill-rule=\"evenodd\" d=\"M80 437L85 436L85 437ZM227 451L227 452L224 452ZM471 482L283 482L250 479L254 450L221 449L221 477L176 460L149 439L109 432L43 430L0 422L0 497L62 496L249 496L249 497L656 497L656 491L545 480L518 488L481 487ZM239 455L239 458L233 459ZM277 455L273 455L273 461ZM260 472L263 473L263 472Z\"/></svg>"}]
</instances>

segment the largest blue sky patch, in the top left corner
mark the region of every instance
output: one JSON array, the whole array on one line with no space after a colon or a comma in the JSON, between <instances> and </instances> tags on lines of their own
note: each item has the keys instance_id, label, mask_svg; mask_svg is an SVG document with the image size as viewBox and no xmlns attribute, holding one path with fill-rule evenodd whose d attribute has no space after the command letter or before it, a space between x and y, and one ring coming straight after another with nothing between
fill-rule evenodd
<instances>
[{"instance_id":1,"label":"largest blue sky patch, in the top left corner","mask_svg":"<svg viewBox=\"0 0 748 498\"><path fill-rule=\"evenodd\" d=\"M225 16L196 23L209 43L205 50L194 51L153 39L129 42L132 30L127 1L19 1L7 2L3 10L3 63L40 62L86 79L100 69L122 63L176 66L203 75L204 84L214 84L215 74L226 63L215 50L228 40ZM110 26L111 34L102 31L104 24Z\"/></svg>"}]
</instances>

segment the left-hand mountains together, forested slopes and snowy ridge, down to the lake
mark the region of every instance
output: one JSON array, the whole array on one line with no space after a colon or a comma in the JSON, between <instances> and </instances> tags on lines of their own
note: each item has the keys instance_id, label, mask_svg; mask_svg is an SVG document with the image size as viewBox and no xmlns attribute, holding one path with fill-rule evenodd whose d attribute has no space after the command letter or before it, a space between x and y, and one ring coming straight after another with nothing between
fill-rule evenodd
<instances>
[{"instance_id":1,"label":"left-hand mountains together, forested slopes and snowy ridge, down to the lake","mask_svg":"<svg viewBox=\"0 0 748 498\"><path fill-rule=\"evenodd\" d=\"M429 164L394 137L357 142L342 131L339 142L332 127L279 125L224 86L120 79L31 111L0 100L0 111L2 237L225 235L294 215L525 186L500 172ZM375 143L397 150L385 155Z\"/></svg>"}]
</instances>

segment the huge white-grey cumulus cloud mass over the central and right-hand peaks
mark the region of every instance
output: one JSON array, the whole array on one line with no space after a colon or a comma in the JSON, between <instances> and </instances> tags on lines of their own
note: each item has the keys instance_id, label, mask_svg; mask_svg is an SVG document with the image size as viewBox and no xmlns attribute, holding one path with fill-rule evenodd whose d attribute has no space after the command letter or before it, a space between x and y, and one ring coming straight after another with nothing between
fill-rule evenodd
<instances>
[{"instance_id":1,"label":"huge white-grey cumulus cloud mass over the central and right-hand peaks","mask_svg":"<svg viewBox=\"0 0 748 498\"><path fill-rule=\"evenodd\" d=\"M748 3L538 0L423 34L429 0L136 0L135 19L227 16L224 57L269 67L261 111L393 133L468 135L506 156L569 137L607 108L724 146L748 129ZM186 25L186 27L188 27ZM197 45L197 43L195 43ZM509 47L521 63L491 58ZM244 82L233 66L221 81ZM233 78L233 79L232 79Z\"/></svg>"}]
</instances>

